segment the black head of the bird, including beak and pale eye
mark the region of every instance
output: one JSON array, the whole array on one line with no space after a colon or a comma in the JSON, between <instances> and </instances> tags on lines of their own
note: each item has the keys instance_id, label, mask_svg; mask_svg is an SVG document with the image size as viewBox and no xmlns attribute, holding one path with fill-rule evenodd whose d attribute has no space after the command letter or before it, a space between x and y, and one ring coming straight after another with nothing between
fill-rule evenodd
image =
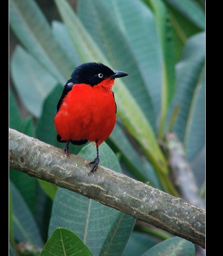
<instances>
[{"instance_id":1,"label":"black head of the bird, including beak and pale eye","mask_svg":"<svg viewBox=\"0 0 223 256\"><path fill-rule=\"evenodd\" d=\"M125 77L128 73L113 71L102 63L88 62L81 64L73 71L71 81L73 84L90 84L94 86L107 78L115 79Z\"/></svg>"}]
</instances>

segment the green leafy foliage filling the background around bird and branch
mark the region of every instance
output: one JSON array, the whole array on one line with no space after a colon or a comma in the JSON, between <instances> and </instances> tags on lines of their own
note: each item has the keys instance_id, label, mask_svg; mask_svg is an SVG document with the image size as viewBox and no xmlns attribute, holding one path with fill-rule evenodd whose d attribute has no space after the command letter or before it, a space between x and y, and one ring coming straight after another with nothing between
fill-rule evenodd
<instances>
[{"instance_id":1,"label":"green leafy foliage filling the background around bird and branch","mask_svg":"<svg viewBox=\"0 0 223 256\"><path fill-rule=\"evenodd\" d=\"M100 146L100 163L178 196L160 146L171 130L183 143L201 187L204 2L79 0L71 6L55 0L57 13L48 22L47 9L36 1L9 0L9 25L18 40L10 56L9 127L63 148L53 124L63 86L79 64L102 62L130 76L115 81L118 121ZM72 146L71 152L95 157L91 144ZM16 170L9 170L9 179L11 255L22 255L22 241L31 245L29 255L69 255L70 247L78 255L170 255L173 248L176 255L195 255L192 243L161 230L154 234L147 226L145 236L136 231L135 219L91 199ZM72 246L77 243L80 247Z\"/></svg>"}]
</instances>

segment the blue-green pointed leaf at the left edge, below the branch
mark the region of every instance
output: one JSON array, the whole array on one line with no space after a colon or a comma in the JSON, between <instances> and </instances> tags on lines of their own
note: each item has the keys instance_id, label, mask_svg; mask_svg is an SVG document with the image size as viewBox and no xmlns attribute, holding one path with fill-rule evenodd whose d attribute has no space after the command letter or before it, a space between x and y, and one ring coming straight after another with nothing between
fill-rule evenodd
<instances>
[{"instance_id":1,"label":"blue-green pointed leaf at the left edge, below the branch","mask_svg":"<svg viewBox=\"0 0 223 256\"><path fill-rule=\"evenodd\" d=\"M29 241L32 245L43 246L39 229L20 192L9 181L13 202L13 234L17 241Z\"/></svg>"}]
</instances>

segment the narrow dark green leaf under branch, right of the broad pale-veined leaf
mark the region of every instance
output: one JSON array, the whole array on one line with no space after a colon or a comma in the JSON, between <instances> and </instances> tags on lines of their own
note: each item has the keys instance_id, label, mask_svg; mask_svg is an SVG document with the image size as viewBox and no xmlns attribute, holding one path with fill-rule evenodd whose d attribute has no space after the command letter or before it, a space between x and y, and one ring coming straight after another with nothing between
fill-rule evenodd
<instances>
[{"instance_id":1,"label":"narrow dark green leaf under branch, right of the broad pale-veined leaf","mask_svg":"<svg viewBox=\"0 0 223 256\"><path fill-rule=\"evenodd\" d=\"M107 235L99 255L121 255L132 233L135 219L131 216L119 213L113 227Z\"/></svg>"}]
</instances>

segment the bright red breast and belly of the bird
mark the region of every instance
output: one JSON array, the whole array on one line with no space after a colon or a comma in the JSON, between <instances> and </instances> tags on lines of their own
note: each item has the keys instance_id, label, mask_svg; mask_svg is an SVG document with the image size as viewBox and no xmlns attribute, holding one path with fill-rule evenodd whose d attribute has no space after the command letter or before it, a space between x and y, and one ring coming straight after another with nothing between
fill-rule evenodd
<instances>
[{"instance_id":1,"label":"bright red breast and belly of the bird","mask_svg":"<svg viewBox=\"0 0 223 256\"><path fill-rule=\"evenodd\" d=\"M116 122L116 105L111 90L85 84L73 86L64 97L54 122L62 141L105 141Z\"/></svg>"}]
</instances>

